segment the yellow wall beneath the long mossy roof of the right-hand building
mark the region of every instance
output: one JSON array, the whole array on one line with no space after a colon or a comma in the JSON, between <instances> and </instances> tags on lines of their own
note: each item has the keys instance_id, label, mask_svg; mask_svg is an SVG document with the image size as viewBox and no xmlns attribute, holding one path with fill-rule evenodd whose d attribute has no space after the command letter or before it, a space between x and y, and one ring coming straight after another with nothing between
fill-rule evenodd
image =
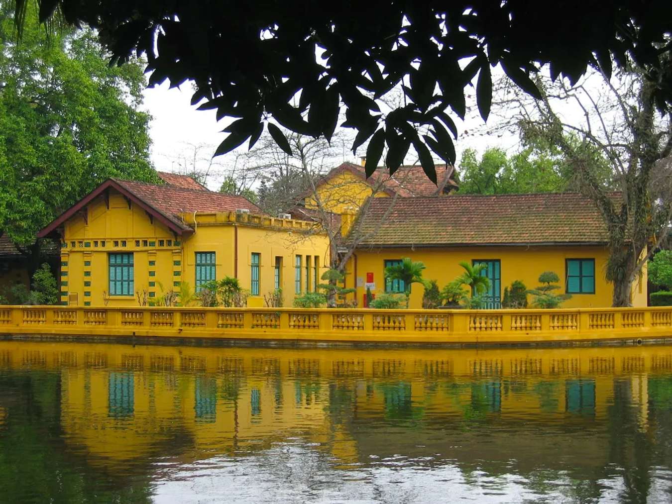
<instances>
[{"instance_id":1,"label":"yellow wall beneath the long mossy roof of the right-hand building","mask_svg":"<svg viewBox=\"0 0 672 504\"><path fill-rule=\"evenodd\" d=\"M367 273L374 275L375 289L373 294L384 294L384 261L386 259L402 259L410 257L413 261L422 261L427 266L423 271L423 278L437 280L439 289L444 288L464 271L458 264L460 261L471 263L474 259L499 259L501 261L501 292L511 285L514 280L521 280L528 289L539 285L538 278L544 271L554 271L560 277L564 292L565 259L595 259L595 294L573 294L570 300L562 304L563 308L596 308L612 306L612 286L604 279L607 263L607 249L605 247L459 247L415 250L402 249L366 249L356 253L356 278L360 279L357 290L359 306L363 306L366 293L363 282L366 282ZM349 275L347 286L356 282L354 272L355 261L349 261ZM422 307L424 288L421 284L413 284L411 290L411 308ZM528 296L532 302L532 296ZM646 306L646 274L634 284L632 302L634 306Z\"/></svg>"}]
</instances>

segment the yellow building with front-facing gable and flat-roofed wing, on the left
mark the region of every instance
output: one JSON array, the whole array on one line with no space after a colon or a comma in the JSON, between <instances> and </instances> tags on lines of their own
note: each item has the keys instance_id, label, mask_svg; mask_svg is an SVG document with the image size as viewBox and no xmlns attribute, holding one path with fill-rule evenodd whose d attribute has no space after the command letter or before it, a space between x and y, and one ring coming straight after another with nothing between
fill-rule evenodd
<instances>
[{"instance_id":1,"label":"yellow building with front-facing gable and flat-roofed wing, on the left","mask_svg":"<svg viewBox=\"0 0 672 504\"><path fill-rule=\"evenodd\" d=\"M177 183L110 179L38 236L60 239L61 300L72 305L152 304L181 282L194 289L230 276L250 291L249 306L263 306L276 288L291 306L328 263L327 238L313 222Z\"/></svg>"}]
</instances>

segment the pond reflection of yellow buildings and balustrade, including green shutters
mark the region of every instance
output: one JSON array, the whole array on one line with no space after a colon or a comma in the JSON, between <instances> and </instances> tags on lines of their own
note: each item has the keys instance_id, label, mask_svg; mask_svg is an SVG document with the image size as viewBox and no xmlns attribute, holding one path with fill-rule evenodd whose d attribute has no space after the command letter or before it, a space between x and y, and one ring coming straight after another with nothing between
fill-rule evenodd
<instances>
[{"instance_id":1,"label":"pond reflection of yellow buildings and balustrade, including green shutters","mask_svg":"<svg viewBox=\"0 0 672 504\"><path fill-rule=\"evenodd\" d=\"M179 460L196 460L294 438L346 464L392 455L400 446L421 454L426 448L417 447L431 443L435 453L465 462L491 460L493 453L524 460L529 451L536 454L530 460L551 464L592 447L601 460L586 462L600 465L608 440L593 433L613 421L615 397L628 396L638 428L646 431L650 377L672 371L672 349L269 350L7 341L0 342L0 365L60 370L67 442L110 470L164 454L165 446ZM2 412L0 402L0 423ZM493 425L487 443L470 431L474 423ZM394 426L394 443L380 425Z\"/></svg>"}]
</instances>

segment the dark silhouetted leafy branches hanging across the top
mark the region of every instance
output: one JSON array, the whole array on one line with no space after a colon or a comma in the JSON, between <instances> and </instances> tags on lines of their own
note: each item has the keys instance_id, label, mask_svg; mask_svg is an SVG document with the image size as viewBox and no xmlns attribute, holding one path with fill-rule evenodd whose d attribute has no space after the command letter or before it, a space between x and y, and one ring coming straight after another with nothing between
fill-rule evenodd
<instances>
[{"instance_id":1,"label":"dark silhouetted leafy branches hanging across the top","mask_svg":"<svg viewBox=\"0 0 672 504\"><path fill-rule=\"evenodd\" d=\"M16 0L19 19L27 3ZM146 54L151 84L192 79L192 103L205 99L201 108L237 118L217 155L253 145L271 118L331 139L343 108L342 126L357 132L353 150L370 138L368 174L384 146L390 172L413 146L435 181L430 151L454 162L451 115L464 117L464 88L475 82L487 119L498 64L540 97L530 73L541 65L553 79L575 82L589 65L610 75L612 65L633 61L655 83L658 108L672 105L672 65L659 59L670 49L666 1L40 1L40 20L54 12L99 30L114 62ZM400 85L403 106L387 110L381 98ZM271 124L269 133L288 151Z\"/></svg>"}]
</instances>

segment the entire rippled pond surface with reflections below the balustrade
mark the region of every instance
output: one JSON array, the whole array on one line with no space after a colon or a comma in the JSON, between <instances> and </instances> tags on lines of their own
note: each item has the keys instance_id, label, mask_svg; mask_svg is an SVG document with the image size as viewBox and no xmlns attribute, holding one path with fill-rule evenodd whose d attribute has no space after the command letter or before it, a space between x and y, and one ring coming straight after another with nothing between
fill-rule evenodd
<instances>
[{"instance_id":1,"label":"entire rippled pond surface with reflections below the balustrade","mask_svg":"<svg viewBox=\"0 0 672 504\"><path fill-rule=\"evenodd\" d=\"M672 347L0 341L0 501L672 501Z\"/></svg>"}]
</instances>

